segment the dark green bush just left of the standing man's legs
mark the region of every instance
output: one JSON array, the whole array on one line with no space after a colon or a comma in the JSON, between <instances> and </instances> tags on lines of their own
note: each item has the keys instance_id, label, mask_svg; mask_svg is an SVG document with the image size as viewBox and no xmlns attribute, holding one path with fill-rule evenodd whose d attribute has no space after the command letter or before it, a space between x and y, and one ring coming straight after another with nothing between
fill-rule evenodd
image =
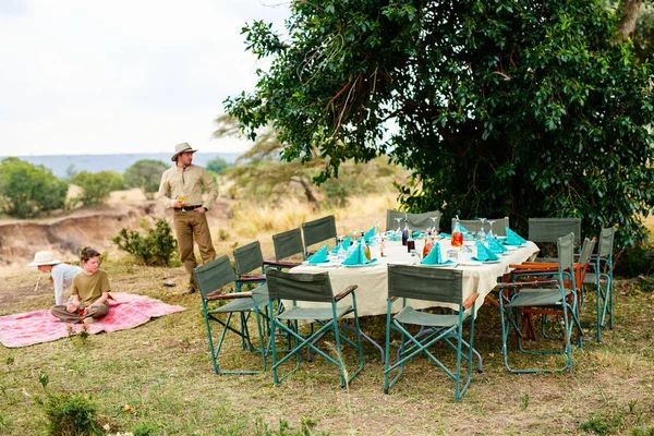
<instances>
[{"instance_id":1,"label":"dark green bush just left of the standing man's legs","mask_svg":"<svg viewBox=\"0 0 654 436\"><path fill-rule=\"evenodd\" d=\"M111 241L120 250L149 266L170 266L170 261L177 250L177 241L165 218L157 218L155 228L147 229L145 237L137 231L122 228Z\"/></svg>"}]
</instances>

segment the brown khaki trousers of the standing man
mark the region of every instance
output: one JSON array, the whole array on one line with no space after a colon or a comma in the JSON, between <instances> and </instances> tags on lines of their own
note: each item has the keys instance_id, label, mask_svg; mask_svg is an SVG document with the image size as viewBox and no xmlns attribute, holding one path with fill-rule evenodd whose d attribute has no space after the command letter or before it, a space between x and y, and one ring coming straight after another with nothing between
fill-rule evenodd
<instances>
[{"instance_id":1,"label":"brown khaki trousers of the standing man","mask_svg":"<svg viewBox=\"0 0 654 436\"><path fill-rule=\"evenodd\" d=\"M195 253L193 253L193 239L199 247L199 256L203 264L216 258L216 250L211 242L211 232L207 223L207 216L198 211L175 210L173 215L174 232L177 233L180 259L189 274L189 284L197 288L193 269L197 266Z\"/></svg>"}]
</instances>

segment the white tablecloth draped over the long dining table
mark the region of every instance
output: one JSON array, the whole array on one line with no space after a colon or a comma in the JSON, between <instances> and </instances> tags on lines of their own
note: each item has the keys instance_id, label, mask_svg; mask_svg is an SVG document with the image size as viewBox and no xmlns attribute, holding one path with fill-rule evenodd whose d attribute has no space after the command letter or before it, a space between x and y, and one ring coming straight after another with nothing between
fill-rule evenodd
<instances>
[{"instance_id":1,"label":"white tablecloth draped over the long dining table","mask_svg":"<svg viewBox=\"0 0 654 436\"><path fill-rule=\"evenodd\" d=\"M416 241L415 249L422 253L424 242ZM445 256L447 251L451 249L449 240L439 241L440 250ZM331 288L337 294L344 290L350 284L358 284L356 289L356 306L359 316L382 315L386 314L387 298L388 298L388 264L407 264L420 263L417 257L411 256L407 252L407 247L400 241L387 241L385 257L379 256L379 247L371 246L372 255L377 257L377 262L372 265L361 267L347 267L337 263L327 263L319 265L304 264L291 269L291 272L329 272ZM495 288L498 278L510 271L509 264L520 264L528 259L533 259L538 253L538 247L531 241L528 241L524 246L509 251L508 255L499 255L500 262L494 264L480 264L476 266L461 265L470 261L470 254L460 252L457 269L463 271L463 293L464 298L471 295L475 291L480 293L476 301L476 310L481 307L486 295ZM474 254L474 253L473 253ZM445 258L445 257L444 257ZM343 300L343 303L349 304L350 299ZM284 302L289 304L290 302ZM300 304L300 303L299 303ZM308 303L302 303L303 306L310 306ZM415 308L425 308L435 306L432 302L412 301L411 305ZM438 304L451 308L458 308L455 305ZM393 305L393 311L399 311L401 303L398 300Z\"/></svg>"}]
</instances>

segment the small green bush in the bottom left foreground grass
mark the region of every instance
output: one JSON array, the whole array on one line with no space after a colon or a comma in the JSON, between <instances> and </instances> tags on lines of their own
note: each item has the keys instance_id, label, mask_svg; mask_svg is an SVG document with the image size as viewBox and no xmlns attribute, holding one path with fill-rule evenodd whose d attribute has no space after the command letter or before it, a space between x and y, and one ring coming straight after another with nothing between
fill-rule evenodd
<instances>
[{"instance_id":1,"label":"small green bush in the bottom left foreground grass","mask_svg":"<svg viewBox=\"0 0 654 436\"><path fill-rule=\"evenodd\" d=\"M49 395L46 403L48 434L73 436L101 433L97 423L97 404L80 393Z\"/></svg>"}]
</instances>

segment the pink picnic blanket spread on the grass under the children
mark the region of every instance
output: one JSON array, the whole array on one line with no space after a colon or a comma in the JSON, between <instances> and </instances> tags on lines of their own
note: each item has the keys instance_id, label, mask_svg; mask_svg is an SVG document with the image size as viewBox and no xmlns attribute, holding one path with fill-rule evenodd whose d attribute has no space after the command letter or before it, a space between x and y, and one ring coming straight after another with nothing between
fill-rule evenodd
<instances>
[{"instance_id":1,"label":"pink picnic blanket spread on the grass under the children","mask_svg":"<svg viewBox=\"0 0 654 436\"><path fill-rule=\"evenodd\" d=\"M52 316L50 311L27 312L0 316L0 342L4 347L26 347L53 341L82 331L85 327L92 335L100 331L116 331L133 328L147 323L152 317L164 316L186 310L172 306L145 295L125 292L111 292L109 313L97 323L65 324Z\"/></svg>"}]
</instances>

